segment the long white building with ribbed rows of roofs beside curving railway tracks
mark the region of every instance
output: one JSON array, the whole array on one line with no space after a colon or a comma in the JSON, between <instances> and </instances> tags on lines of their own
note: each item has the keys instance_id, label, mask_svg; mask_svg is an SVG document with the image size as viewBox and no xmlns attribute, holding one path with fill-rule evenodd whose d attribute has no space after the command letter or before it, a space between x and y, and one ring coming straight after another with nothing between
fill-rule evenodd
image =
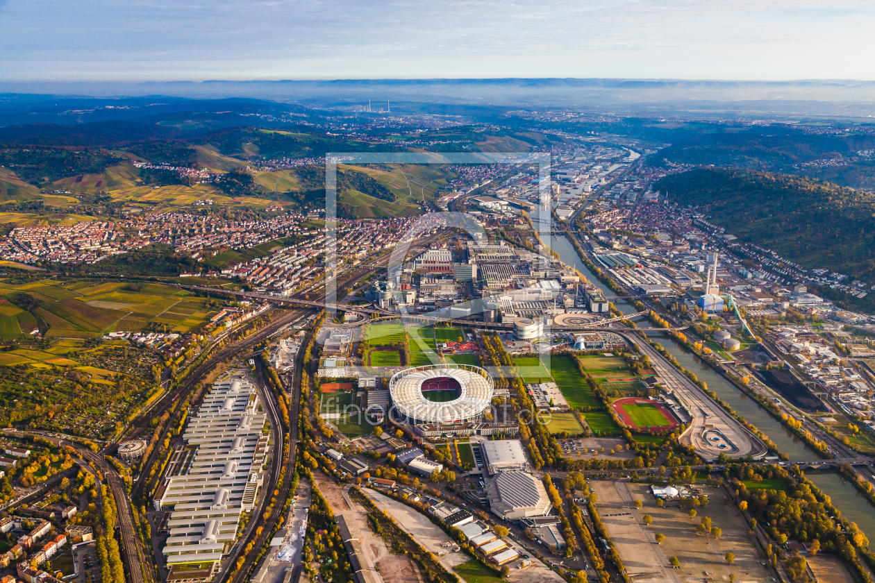
<instances>
[{"instance_id":1,"label":"long white building with ribbed rows of roofs beside curving railway tracks","mask_svg":"<svg viewBox=\"0 0 875 583\"><path fill-rule=\"evenodd\" d=\"M172 510L164 548L172 570L213 563L212 574L230 551L263 481L266 420L255 386L235 377L215 383L188 421L174 475L153 500L156 510Z\"/></svg>"}]
</instances>

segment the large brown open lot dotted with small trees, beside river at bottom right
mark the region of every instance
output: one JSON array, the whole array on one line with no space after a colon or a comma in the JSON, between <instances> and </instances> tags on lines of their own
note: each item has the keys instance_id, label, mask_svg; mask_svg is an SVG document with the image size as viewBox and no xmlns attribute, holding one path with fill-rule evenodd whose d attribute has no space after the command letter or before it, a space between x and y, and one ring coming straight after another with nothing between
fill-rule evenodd
<instances>
[{"instance_id":1,"label":"large brown open lot dotted with small trees, beside river at bottom right","mask_svg":"<svg viewBox=\"0 0 875 583\"><path fill-rule=\"evenodd\" d=\"M711 498L711 503L697 509L698 516L690 519L686 509L657 507L654 496L650 494L650 487L646 484L603 481L591 483L594 484L593 488L598 495L599 515L606 524L612 541L618 547L620 558L630 571L637 568L642 575L633 576L634 580L676 580L691 583L701 582L707 577L712 580L728 581L730 573L735 573L739 583L771 583L772 577L767 567L760 563L765 559L760 557L753 546L751 537L747 534L747 526L739 517L737 510L733 506L726 505L721 489L705 486L705 493ZM635 510L634 500L641 500L644 507ZM632 516L606 516L623 512L631 512ZM651 526L645 527L641 523L641 517L645 514L653 517ZM712 524L723 530L719 539L697 534L696 524L705 516L711 517ZM660 564L667 577L661 579L657 574L647 574L648 569L649 573L655 573L655 569L648 556L641 557L643 549L640 535L636 536L634 526L629 524L633 518L641 525L639 528L646 531L645 537L648 546L652 549L651 553L660 558ZM666 538L662 545L655 545L654 537L658 532ZM617 538L614 538L615 536ZM735 555L734 565L726 563L726 552ZM668 566L667 559L670 557L680 559L680 569L671 569Z\"/></svg>"}]
</instances>

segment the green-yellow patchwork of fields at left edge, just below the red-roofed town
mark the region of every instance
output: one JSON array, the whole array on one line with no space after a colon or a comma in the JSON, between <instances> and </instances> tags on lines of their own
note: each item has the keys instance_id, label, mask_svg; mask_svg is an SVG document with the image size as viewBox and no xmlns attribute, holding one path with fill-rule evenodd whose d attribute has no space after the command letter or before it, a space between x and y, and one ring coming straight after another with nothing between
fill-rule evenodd
<instances>
[{"instance_id":1,"label":"green-yellow patchwork of fields at left edge, just below the red-roofed town","mask_svg":"<svg viewBox=\"0 0 875 583\"><path fill-rule=\"evenodd\" d=\"M50 338L94 338L150 325L186 333L218 312L178 288L124 282L0 281L0 302L0 340L29 337L37 328Z\"/></svg>"}]
</instances>

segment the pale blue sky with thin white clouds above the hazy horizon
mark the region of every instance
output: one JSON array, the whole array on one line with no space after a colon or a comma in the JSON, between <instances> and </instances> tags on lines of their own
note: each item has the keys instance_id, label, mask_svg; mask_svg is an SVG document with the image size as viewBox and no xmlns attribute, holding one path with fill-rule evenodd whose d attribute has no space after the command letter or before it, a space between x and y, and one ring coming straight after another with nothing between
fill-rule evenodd
<instances>
[{"instance_id":1,"label":"pale blue sky with thin white clouds above the hazy horizon","mask_svg":"<svg viewBox=\"0 0 875 583\"><path fill-rule=\"evenodd\" d=\"M875 80L875 0L0 0L0 81Z\"/></svg>"}]
</instances>

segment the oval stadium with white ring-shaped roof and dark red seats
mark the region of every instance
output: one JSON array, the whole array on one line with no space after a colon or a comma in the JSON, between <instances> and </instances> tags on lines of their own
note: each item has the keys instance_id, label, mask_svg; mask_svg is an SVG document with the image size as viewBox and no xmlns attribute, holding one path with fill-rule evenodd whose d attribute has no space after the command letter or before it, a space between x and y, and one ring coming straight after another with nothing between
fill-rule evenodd
<instances>
[{"instance_id":1,"label":"oval stadium with white ring-shaped roof and dark red seats","mask_svg":"<svg viewBox=\"0 0 875 583\"><path fill-rule=\"evenodd\" d=\"M471 364L428 364L395 373L388 390L411 424L478 420L492 404L493 379Z\"/></svg>"}]
</instances>

